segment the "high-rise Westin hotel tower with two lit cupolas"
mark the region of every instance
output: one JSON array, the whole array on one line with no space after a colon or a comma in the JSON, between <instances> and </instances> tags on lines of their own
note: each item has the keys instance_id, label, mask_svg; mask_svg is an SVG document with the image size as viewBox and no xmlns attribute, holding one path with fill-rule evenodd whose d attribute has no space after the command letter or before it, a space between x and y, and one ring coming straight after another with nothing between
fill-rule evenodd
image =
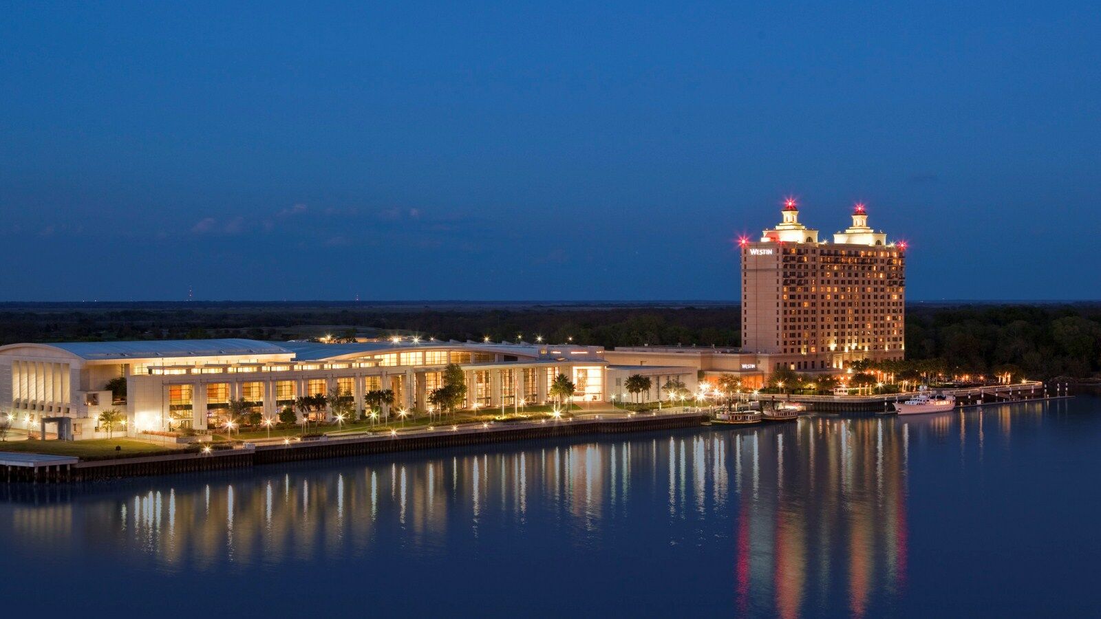
<instances>
[{"instance_id":1,"label":"high-rise Westin hotel tower with two lit cupolas","mask_svg":"<svg viewBox=\"0 0 1101 619\"><path fill-rule=\"evenodd\" d=\"M852 226L818 240L799 224L794 199L757 242L742 239L742 350L765 354L772 370L837 371L858 359L904 355L906 245ZM774 367L772 367L774 366Z\"/></svg>"}]
</instances>

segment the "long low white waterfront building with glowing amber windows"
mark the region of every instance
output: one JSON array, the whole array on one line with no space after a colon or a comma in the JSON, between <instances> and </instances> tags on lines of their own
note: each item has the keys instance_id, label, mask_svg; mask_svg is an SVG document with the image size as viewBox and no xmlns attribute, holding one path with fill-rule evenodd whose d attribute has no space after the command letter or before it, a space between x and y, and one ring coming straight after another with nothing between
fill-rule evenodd
<instances>
[{"instance_id":1,"label":"long low white waterfront building with glowing amber windows","mask_svg":"<svg viewBox=\"0 0 1101 619\"><path fill-rule=\"evenodd\" d=\"M0 347L0 414L18 428L58 428L66 438L103 438L97 427L103 411L126 413L126 433L183 427L207 430L225 423L230 400L244 400L266 419L302 395L337 390L353 410L364 410L364 394L392 390L394 404L430 411L428 394L443 385L443 370L462 368L466 409L514 409L544 404L550 383L565 374L576 388L575 402L609 402L622 393L628 376L651 378L650 400L661 398L669 380L695 390L693 367L650 363L623 367L604 359L599 346L574 344L385 341L321 344L198 339L12 344ZM116 401L107 384L124 377L127 395ZM301 415L305 414L297 411ZM330 410L316 417L331 421ZM62 428L65 428L64 431Z\"/></svg>"}]
</instances>

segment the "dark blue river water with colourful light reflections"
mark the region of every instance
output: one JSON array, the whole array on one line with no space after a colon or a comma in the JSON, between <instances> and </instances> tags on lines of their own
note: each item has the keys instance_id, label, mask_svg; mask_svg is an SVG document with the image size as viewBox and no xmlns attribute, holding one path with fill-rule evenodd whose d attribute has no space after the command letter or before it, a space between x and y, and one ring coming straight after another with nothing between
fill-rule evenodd
<instances>
[{"instance_id":1,"label":"dark blue river water with colourful light reflections","mask_svg":"<svg viewBox=\"0 0 1101 619\"><path fill-rule=\"evenodd\" d=\"M1090 615L1099 456L1101 399L1078 398L0 488L2 604Z\"/></svg>"}]
</instances>

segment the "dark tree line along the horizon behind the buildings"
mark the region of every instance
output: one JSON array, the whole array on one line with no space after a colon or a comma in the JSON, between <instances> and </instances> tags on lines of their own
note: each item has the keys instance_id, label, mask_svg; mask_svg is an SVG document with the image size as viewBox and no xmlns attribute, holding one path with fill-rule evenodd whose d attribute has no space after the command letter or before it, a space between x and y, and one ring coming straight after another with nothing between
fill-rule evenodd
<instances>
[{"instance_id":1,"label":"dark tree line along the horizon behind the buildings","mask_svg":"<svg viewBox=\"0 0 1101 619\"><path fill-rule=\"evenodd\" d=\"M722 306L372 307L356 304L0 305L0 344L248 337L285 340L419 334L437 339L566 341L604 347L741 344L741 310ZM911 304L906 359L946 371L1084 378L1101 371L1101 304Z\"/></svg>"}]
</instances>

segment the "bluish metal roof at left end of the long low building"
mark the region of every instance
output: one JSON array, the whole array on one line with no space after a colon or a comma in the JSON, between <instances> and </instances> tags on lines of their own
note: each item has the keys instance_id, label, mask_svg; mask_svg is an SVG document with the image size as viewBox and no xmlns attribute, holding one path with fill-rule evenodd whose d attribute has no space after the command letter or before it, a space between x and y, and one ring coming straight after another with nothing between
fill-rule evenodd
<instances>
[{"instance_id":1,"label":"bluish metal roof at left end of the long low building","mask_svg":"<svg viewBox=\"0 0 1101 619\"><path fill-rule=\"evenodd\" d=\"M287 355L291 350L257 339L157 339L144 341L63 341L46 344L89 361L156 357L224 357Z\"/></svg>"}]
</instances>

